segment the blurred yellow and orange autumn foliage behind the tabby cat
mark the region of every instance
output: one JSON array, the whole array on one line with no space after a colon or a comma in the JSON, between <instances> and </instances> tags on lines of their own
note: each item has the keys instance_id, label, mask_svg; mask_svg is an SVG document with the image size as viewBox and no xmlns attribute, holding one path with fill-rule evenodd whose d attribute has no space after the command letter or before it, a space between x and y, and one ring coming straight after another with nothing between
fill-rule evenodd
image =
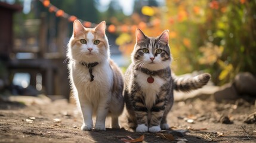
<instances>
[{"instance_id":1,"label":"blurred yellow and orange autumn foliage behind the tabby cat","mask_svg":"<svg viewBox=\"0 0 256 143\"><path fill-rule=\"evenodd\" d=\"M218 85L232 81L239 71L256 74L255 1L165 1L164 7L146 8L141 13L149 5L147 2L135 1L131 18L137 27L140 21L147 22L143 32L149 36L170 30L175 73L205 69ZM150 23L157 24L150 27ZM132 33L131 43L121 42L127 39L124 37L121 35L118 43L122 43L121 51L130 56L135 36Z\"/></svg>"}]
</instances>

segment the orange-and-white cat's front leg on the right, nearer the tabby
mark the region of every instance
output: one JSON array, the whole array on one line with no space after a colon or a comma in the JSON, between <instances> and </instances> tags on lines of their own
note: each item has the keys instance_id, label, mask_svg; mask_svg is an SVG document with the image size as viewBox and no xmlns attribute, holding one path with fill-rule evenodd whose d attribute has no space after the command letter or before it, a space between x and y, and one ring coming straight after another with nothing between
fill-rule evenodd
<instances>
[{"instance_id":1,"label":"orange-and-white cat's front leg on the right, nearer the tabby","mask_svg":"<svg viewBox=\"0 0 256 143\"><path fill-rule=\"evenodd\" d=\"M110 94L107 94L106 96L101 96L100 101L98 102L95 130L106 130L105 121L107 113L109 112L109 95Z\"/></svg>"}]
</instances>

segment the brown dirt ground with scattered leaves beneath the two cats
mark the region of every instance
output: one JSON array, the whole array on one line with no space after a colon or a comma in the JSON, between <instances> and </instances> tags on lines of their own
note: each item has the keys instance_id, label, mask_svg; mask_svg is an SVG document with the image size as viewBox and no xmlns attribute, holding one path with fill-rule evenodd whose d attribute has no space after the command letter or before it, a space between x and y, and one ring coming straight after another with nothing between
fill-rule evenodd
<instances>
[{"instance_id":1,"label":"brown dirt ground with scattered leaves beneath the two cats","mask_svg":"<svg viewBox=\"0 0 256 143\"><path fill-rule=\"evenodd\" d=\"M121 139L127 136L138 138L141 135L144 135L143 142L178 142L178 139L187 142L256 142L256 124L244 122L249 114L255 113L254 104L255 99L218 103L212 97L175 102L168 116L171 128L162 133L180 129L187 132L174 136L171 141L156 133L110 129L109 119L106 131L83 131L76 105L67 100L29 106L1 101L0 142L123 142ZM122 127L127 126L124 116L120 122Z\"/></svg>"}]
</instances>

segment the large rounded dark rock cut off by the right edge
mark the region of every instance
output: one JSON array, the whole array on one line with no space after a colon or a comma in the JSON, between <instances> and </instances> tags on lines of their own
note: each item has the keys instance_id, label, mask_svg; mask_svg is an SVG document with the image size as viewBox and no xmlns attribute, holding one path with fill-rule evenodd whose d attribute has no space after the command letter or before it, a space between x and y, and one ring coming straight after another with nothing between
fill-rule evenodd
<instances>
[{"instance_id":1,"label":"large rounded dark rock cut off by the right edge","mask_svg":"<svg viewBox=\"0 0 256 143\"><path fill-rule=\"evenodd\" d=\"M239 94L249 94L256 97L256 78L251 73L237 74L234 83Z\"/></svg>"}]
</instances>

